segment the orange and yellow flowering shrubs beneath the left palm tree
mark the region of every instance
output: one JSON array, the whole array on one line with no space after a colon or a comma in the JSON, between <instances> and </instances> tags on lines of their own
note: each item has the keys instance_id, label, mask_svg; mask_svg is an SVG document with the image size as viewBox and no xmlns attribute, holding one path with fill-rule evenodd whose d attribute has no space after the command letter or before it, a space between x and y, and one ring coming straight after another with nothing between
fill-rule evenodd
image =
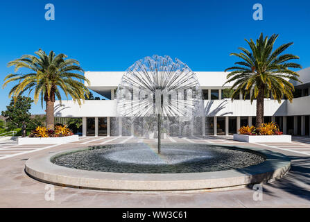
<instances>
[{"instance_id":1,"label":"orange and yellow flowering shrubs beneath the left palm tree","mask_svg":"<svg viewBox=\"0 0 310 222\"><path fill-rule=\"evenodd\" d=\"M48 130L45 126L38 126L29 137L68 137L71 135L73 133L66 125L56 125L55 130Z\"/></svg>"}]
</instances>

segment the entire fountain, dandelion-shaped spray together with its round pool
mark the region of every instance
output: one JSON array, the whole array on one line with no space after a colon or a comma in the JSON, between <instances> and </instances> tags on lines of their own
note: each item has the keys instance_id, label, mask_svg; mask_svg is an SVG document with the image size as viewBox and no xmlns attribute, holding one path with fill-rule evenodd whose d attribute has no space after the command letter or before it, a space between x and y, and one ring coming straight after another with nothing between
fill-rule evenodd
<instances>
[{"instance_id":1,"label":"entire fountain, dandelion-shaped spray together with its round pool","mask_svg":"<svg viewBox=\"0 0 310 222\"><path fill-rule=\"evenodd\" d=\"M196 74L178 59L152 56L129 67L117 88L117 112L119 123L112 126L123 124L135 137L157 133L157 143L148 138L144 143L49 153L28 160L26 173L68 187L184 191L240 187L274 180L289 171L288 157L259 148L205 144L203 140L162 144L162 129L169 136L202 135L198 130L204 114L199 83Z\"/></svg>"}]
</instances>

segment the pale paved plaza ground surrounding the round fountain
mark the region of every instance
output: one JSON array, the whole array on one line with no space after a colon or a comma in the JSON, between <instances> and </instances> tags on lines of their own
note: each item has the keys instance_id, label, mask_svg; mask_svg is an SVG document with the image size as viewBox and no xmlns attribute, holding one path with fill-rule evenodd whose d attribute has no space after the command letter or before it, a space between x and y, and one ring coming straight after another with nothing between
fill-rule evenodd
<instances>
[{"instance_id":1,"label":"pale paved plaza ground surrounding the round fountain","mask_svg":"<svg viewBox=\"0 0 310 222\"><path fill-rule=\"evenodd\" d=\"M0 142L0 207L310 207L310 137L291 143L250 144L231 136L162 139L164 143L205 143L259 147L291 158L291 170L282 179L263 185L263 200L253 200L252 186L217 191L129 192L74 189L55 186L55 200L46 200L46 184L24 173L28 158L71 148L101 144L155 143L135 137L80 137L60 145L18 145Z\"/></svg>"}]
</instances>

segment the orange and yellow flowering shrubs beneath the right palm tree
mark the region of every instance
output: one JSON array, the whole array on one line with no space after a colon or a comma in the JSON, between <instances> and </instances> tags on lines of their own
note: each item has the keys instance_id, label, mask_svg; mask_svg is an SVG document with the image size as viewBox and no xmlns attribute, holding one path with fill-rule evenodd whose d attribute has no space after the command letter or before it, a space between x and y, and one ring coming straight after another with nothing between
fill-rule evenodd
<instances>
[{"instance_id":1,"label":"orange and yellow flowering shrubs beneath the right palm tree","mask_svg":"<svg viewBox=\"0 0 310 222\"><path fill-rule=\"evenodd\" d=\"M261 126L255 128L255 126L242 126L239 129L240 134L243 135L282 135L279 130L279 126L274 122L262 123Z\"/></svg>"}]
</instances>

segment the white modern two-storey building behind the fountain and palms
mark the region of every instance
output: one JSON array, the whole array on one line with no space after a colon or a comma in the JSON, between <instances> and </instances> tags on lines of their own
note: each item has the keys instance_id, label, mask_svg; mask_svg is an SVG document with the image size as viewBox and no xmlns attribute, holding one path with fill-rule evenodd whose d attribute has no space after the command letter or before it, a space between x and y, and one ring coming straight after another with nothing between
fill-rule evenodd
<instances>
[{"instance_id":1,"label":"white modern two-storey building behind the fountain and palms","mask_svg":"<svg viewBox=\"0 0 310 222\"><path fill-rule=\"evenodd\" d=\"M74 101L55 102L55 117L83 118L83 135L110 136L134 135L133 127L122 126L117 117L116 89L124 71L87 71L89 89L105 96L109 100L87 100L83 105ZM265 122L275 121L284 134L310 134L310 67L298 71L302 83L293 83L295 98L293 103L283 99L278 103L273 98L265 99ZM232 135L240 126L255 123L256 101L249 98L232 101L226 91L231 84L223 86L227 73L223 71L196 71L200 88L203 90L205 117L195 128L202 128L203 135ZM87 83L85 83L87 84ZM117 132L112 125L117 124ZM169 131L169 130L168 130ZM169 132L168 132L169 133Z\"/></svg>"}]
</instances>

